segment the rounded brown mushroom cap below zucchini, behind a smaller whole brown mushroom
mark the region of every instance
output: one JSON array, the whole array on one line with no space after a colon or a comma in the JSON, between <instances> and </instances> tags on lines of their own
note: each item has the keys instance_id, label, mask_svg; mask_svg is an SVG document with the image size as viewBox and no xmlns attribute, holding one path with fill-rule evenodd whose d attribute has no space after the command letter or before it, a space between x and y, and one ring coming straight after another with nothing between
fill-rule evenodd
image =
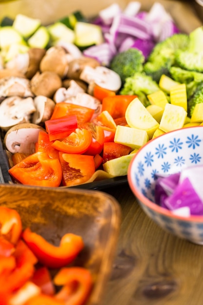
<instances>
[{"instance_id":1,"label":"rounded brown mushroom cap below zucchini, behind a smaller whole brown mushroom","mask_svg":"<svg viewBox=\"0 0 203 305\"><path fill-rule=\"evenodd\" d=\"M66 51L61 46L51 47L40 62L40 71L52 71L61 78L65 77L68 71L68 58Z\"/></svg>"}]
</instances>

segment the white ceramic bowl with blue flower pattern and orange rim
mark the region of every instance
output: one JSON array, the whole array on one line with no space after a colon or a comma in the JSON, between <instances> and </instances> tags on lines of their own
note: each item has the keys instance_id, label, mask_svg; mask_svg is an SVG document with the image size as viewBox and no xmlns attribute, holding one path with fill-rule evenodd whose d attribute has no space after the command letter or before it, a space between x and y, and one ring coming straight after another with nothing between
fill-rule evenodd
<instances>
[{"instance_id":1,"label":"white ceramic bowl with blue flower pattern and orange rim","mask_svg":"<svg viewBox=\"0 0 203 305\"><path fill-rule=\"evenodd\" d=\"M154 202L157 173L168 175L203 164L203 126L172 131L150 140L133 157L128 182L141 208L160 227L203 245L203 216L182 217Z\"/></svg>"}]
</instances>

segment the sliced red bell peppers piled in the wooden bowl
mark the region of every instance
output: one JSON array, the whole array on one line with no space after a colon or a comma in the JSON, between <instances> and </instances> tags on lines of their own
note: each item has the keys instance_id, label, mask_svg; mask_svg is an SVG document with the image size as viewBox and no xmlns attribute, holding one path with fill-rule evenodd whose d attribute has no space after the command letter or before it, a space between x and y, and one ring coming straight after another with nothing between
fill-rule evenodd
<instances>
[{"instance_id":1,"label":"sliced red bell peppers piled in the wooden bowl","mask_svg":"<svg viewBox=\"0 0 203 305\"><path fill-rule=\"evenodd\" d=\"M92 274L84 267L67 267L84 247L80 236L67 233L55 247L30 228L22 229L17 210L6 207L0 207L0 224L1 305L86 302Z\"/></svg>"}]
</instances>

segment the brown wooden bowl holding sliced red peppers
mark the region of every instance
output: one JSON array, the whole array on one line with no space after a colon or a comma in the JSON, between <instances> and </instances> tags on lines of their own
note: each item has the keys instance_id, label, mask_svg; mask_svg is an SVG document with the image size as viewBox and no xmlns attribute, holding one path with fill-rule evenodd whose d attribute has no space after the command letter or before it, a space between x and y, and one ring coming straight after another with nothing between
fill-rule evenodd
<instances>
[{"instance_id":1,"label":"brown wooden bowl holding sliced red peppers","mask_svg":"<svg viewBox=\"0 0 203 305\"><path fill-rule=\"evenodd\" d=\"M0 184L0 205L17 210L24 228L30 227L55 246L67 232L83 237L85 248L72 265L92 272L94 286L87 304L99 305L119 235L118 202L100 191Z\"/></svg>"}]
</instances>

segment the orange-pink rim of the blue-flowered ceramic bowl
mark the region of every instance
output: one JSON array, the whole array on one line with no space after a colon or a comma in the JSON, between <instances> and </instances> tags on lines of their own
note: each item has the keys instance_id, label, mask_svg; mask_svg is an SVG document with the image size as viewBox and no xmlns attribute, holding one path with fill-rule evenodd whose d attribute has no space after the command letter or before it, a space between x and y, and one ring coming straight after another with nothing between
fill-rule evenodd
<instances>
[{"instance_id":1,"label":"orange-pink rim of the blue-flowered ceramic bowl","mask_svg":"<svg viewBox=\"0 0 203 305\"><path fill-rule=\"evenodd\" d=\"M188 126L183 128L184 130L186 129L194 129L194 128L203 128L203 125L199 125L199 126ZM133 194L135 195L135 197L138 199L138 201L141 201L145 206L147 206L148 208L150 208L151 210L154 210L157 213L160 213L162 215L168 216L168 217L172 217L175 218L177 220L182 220L182 221L191 221L191 222L199 222L202 223L203 222L203 216L198 216L198 215L191 215L188 217L185 216L180 216L180 215L176 215L173 214L170 210L167 210L165 208L160 207L159 205L157 205L156 203L152 202L151 200L149 200L147 197L145 197L140 191L137 190L137 188L135 187L135 185L132 183L132 178L131 178L131 173L132 173L132 166L133 166L133 162L134 160L137 158L137 156L142 153L142 150L151 144L151 142L156 141L158 138L166 136L170 133L176 133L178 131L180 131L182 129L176 129L170 132L167 132L165 134L161 134L159 136L157 136L154 139L150 139L146 144L144 144L139 150L138 152L135 153L135 155L132 157L130 163L129 163L129 168L128 168L128 174L127 174L127 179L128 179L128 183L129 183L129 187L131 189L131 191L133 192Z\"/></svg>"}]
</instances>

